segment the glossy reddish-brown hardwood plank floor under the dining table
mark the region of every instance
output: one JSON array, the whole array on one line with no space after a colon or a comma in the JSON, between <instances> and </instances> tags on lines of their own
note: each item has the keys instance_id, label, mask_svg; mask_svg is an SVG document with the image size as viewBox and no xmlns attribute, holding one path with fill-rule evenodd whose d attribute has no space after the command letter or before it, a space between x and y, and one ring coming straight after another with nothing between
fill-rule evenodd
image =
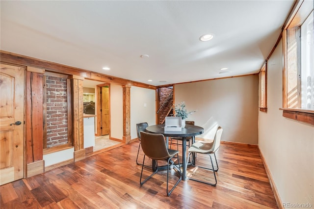
<instances>
[{"instance_id":1,"label":"glossy reddish-brown hardwood plank floor under the dining table","mask_svg":"<svg viewBox=\"0 0 314 209\"><path fill-rule=\"evenodd\" d=\"M137 149L138 141L4 184L0 187L0 208L277 208L257 146L222 143L216 153L217 186L181 181L170 197L166 195L165 171L139 185ZM143 159L141 151L139 158ZM205 157L198 155L197 159L202 162ZM150 173L151 169L145 168L143 175ZM171 186L176 178L170 176Z\"/></svg>"}]
</instances>

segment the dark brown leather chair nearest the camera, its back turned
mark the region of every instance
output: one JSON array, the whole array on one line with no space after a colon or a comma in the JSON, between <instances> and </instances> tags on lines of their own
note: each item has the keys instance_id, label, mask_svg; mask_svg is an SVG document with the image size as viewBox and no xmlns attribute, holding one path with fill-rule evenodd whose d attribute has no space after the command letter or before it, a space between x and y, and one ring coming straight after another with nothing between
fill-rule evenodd
<instances>
[{"instance_id":1,"label":"dark brown leather chair nearest the camera, its back turned","mask_svg":"<svg viewBox=\"0 0 314 209\"><path fill-rule=\"evenodd\" d=\"M153 177L157 173L158 160L166 160L168 162L167 163L167 196L170 196L171 192L174 190L174 188L178 185L178 183L182 179L182 173L181 173L180 162L179 162L179 151L168 149L166 146L165 138L161 133L146 133L142 131L140 134L141 134L142 150L145 154L144 159L143 159L143 164L142 164L141 176L139 180L140 185L142 186L145 182L147 182L147 180L149 180L151 177ZM151 158L152 160L156 160L157 169L155 172L153 172L149 177L147 177L142 182L144 161L145 161L146 156ZM173 161L171 160L172 157L174 156L178 157L179 166L175 165ZM180 177L178 181L175 183L175 185L169 191L168 184L169 184L169 166L170 165L173 166L173 168L177 171L176 173L178 173Z\"/></svg>"}]
</instances>

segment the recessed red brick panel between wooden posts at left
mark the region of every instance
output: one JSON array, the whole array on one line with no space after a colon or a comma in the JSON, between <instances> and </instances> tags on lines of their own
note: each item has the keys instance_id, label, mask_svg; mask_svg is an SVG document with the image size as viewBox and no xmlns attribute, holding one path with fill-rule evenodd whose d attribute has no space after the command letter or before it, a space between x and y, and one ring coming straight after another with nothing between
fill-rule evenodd
<instances>
[{"instance_id":1,"label":"recessed red brick panel between wooden posts at left","mask_svg":"<svg viewBox=\"0 0 314 209\"><path fill-rule=\"evenodd\" d=\"M46 77L47 148L68 143L67 79Z\"/></svg>"}]
</instances>

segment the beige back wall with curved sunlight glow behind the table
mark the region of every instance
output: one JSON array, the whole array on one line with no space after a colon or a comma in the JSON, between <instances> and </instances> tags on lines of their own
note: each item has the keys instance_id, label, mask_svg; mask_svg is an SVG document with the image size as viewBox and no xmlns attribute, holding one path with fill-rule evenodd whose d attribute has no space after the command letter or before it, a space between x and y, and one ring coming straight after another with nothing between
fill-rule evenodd
<instances>
[{"instance_id":1,"label":"beige back wall with curved sunlight glow behind the table","mask_svg":"<svg viewBox=\"0 0 314 209\"><path fill-rule=\"evenodd\" d=\"M205 138L221 126L222 141L258 144L258 88L258 75L177 84L175 104L197 110L186 120L203 127Z\"/></svg>"}]
</instances>

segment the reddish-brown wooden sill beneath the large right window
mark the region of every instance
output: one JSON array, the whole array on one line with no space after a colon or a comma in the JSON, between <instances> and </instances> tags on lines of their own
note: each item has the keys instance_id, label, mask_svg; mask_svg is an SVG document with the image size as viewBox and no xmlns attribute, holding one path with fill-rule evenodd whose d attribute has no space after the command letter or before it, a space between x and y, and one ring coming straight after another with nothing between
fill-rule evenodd
<instances>
[{"instance_id":1,"label":"reddish-brown wooden sill beneath the large right window","mask_svg":"<svg viewBox=\"0 0 314 209\"><path fill-rule=\"evenodd\" d=\"M284 110L283 117L314 125L314 110L294 108L279 108L279 109Z\"/></svg>"}]
</instances>

